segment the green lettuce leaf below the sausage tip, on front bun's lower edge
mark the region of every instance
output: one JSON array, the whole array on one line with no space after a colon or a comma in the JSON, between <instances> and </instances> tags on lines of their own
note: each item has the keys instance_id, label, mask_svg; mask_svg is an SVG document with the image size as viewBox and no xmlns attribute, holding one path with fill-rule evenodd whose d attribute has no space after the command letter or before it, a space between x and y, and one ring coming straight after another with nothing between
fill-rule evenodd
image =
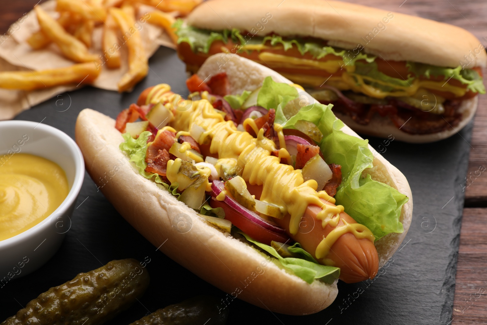
<instances>
[{"instance_id":1,"label":"green lettuce leaf below the sausage tip, on front bun's lower edge","mask_svg":"<svg viewBox=\"0 0 487 325\"><path fill-rule=\"evenodd\" d=\"M269 245L262 244L251 237L249 237L247 234L244 232L240 232L245 236L245 238L260 247L261 249L265 250L275 258L281 262L282 266L284 268L289 268L290 270L293 271L293 273L306 281L307 283L313 283L315 279L320 279L321 281L332 284L338 277L340 276L340 268L336 267L330 267L326 265L321 265L318 264L318 262L315 261L309 261L306 259L301 259L301 258L294 258L294 257L282 257L279 255L279 253L274 249L273 247ZM299 244L298 244L299 245ZM297 246L296 244L293 245L295 246L295 250L298 249L301 251L304 251L303 249L300 249L300 246ZM308 253L306 253L308 254ZM309 255L309 254L308 254ZM311 255L309 255L311 257ZM313 258L313 257L311 257Z\"/></svg>"}]
</instances>

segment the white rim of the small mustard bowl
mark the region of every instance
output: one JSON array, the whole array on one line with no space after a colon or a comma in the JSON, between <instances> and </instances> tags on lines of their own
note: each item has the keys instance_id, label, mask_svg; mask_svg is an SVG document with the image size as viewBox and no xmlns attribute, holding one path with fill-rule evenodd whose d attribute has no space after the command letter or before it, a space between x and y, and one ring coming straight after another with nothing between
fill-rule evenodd
<instances>
[{"instance_id":1,"label":"white rim of the small mustard bowl","mask_svg":"<svg viewBox=\"0 0 487 325\"><path fill-rule=\"evenodd\" d=\"M83 180L85 176L85 162L84 162L83 154L81 153L81 150L79 150L79 147L76 144L75 140L73 140L68 134L62 132L59 129L56 129L53 126L43 124L41 122L24 121L24 120L0 121L0 129L5 125L16 126L19 128L34 128L34 129L38 128L44 133L55 136L56 138L66 143L66 145L69 148L71 148L70 153L75 163L75 177L73 180L73 185L71 186L71 190L68 192L68 195L66 196L64 201L62 201L59 207L56 208L56 210L54 210L50 215L48 215L44 220L39 222L34 227L31 227L13 237L1 240L0 249L9 249L17 245L20 245L28 241L29 239L34 238L37 234L46 231L48 227L51 227L52 216L59 213L65 213L66 210L75 203L79 191L81 190L81 186L83 185ZM46 158L46 159L50 159L50 158Z\"/></svg>"}]
</instances>

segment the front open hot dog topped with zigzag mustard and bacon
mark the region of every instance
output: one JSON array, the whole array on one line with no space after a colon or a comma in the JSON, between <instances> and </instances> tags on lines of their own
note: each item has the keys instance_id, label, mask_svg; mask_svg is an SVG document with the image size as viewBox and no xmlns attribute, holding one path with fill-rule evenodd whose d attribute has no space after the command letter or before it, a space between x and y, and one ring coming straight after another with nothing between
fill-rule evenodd
<instances>
[{"instance_id":1,"label":"front open hot dog topped with zigzag mustard and bacon","mask_svg":"<svg viewBox=\"0 0 487 325\"><path fill-rule=\"evenodd\" d=\"M210 74L221 73L215 67L214 60L208 59L201 74L193 79L204 76L201 79L204 80ZM243 71L248 75L242 75ZM225 76L219 75L212 87L194 83L198 87L206 85L212 93L193 92L187 100L172 93L168 85L144 91L138 100L140 105L134 104L119 115L116 123L119 130L113 127L115 122L110 118L91 110L82 111L76 123L76 140L88 172L97 182L105 172L113 170L113 164L120 161L117 159L130 158L132 165L117 163L117 171L110 173L109 179L105 177L100 190L156 247L168 239L169 245L160 247L163 252L234 298L238 296L257 306L288 314L317 312L335 299L334 279L338 272L339 278L348 283L373 278L400 245L412 213L409 186L404 176L379 154L375 154L372 162L367 143L360 142L345 126L340 127L333 115L326 115L329 112L326 106L318 103L316 107L305 106L295 115L298 127L305 124L313 132L303 132L302 137L284 135L294 119L284 121L283 105L276 101L282 98L279 92L286 93L289 99L292 94L297 96L298 91L289 85L289 80L244 58L235 58L224 72ZM267 76L279 82L266 79ZM191 82L188 85L193 91ZM257 89L258 102L265 99L269 106L254 107L238 117L239 112L230 103L237 105L244 99L212 95L223 94L225 89L235 95L240 95L242 89ZM156 106L159 108L155 109ZM142 121L125 123L128 118L132 120L128 117L130 112L139 114ZM323 115L319 117L318 112ZM319 118L299 119L304 118L303 114ZM263 116L267 117L258 120ZM339 132L346 133L330 140L337 131L327 135L323 126L319 131L322 138L316 141L317 129L306 124L314 124L315 120L331 121ZM294 129L293 134L300 133ZM401 197L391 209L397 212L395 216L384 211L382 230L379 223L359 213L369 209L372 217L377 211L374 204L362 210L340 205L341 198L346 198L343 199L346 202L355 197L349 183L353 174L350 165L334 158L332 151L339 148L329 146L333 141L345 145L339 142L343 139L369 154L363 157L371 159L370 167L375 166L363 176L371 186L369 191L379 186L394 197ZM297 168L300 164L301 169ZM335 175L337 185L325 186L332 176L313 174L327 172L327 164L335 164L334 172L341 168L341 183ZM330 168L329 172L332 173ZM363 171L356 172L360 175ZM378 181L384 175L387 177ZM330 195L323 188L336 191L330 191ZM211 219L210 224L217 225L215 229L207 224L211 217L200 219L198 212L224 220ZM186 225L184 221L188 219L191 220L188 231L177 228ZM234 225L231 231L228 222ZM389 223L393 222L400 229L390 231ZM372 226L369 229L365 224L379 225L379 229ZM255 281L256 285L242 288L249 281ZM275 300L276 294L282 298L280 301ZM295 299L302 301L288 308L286 302Z\"/></svg>"}]
</instances>

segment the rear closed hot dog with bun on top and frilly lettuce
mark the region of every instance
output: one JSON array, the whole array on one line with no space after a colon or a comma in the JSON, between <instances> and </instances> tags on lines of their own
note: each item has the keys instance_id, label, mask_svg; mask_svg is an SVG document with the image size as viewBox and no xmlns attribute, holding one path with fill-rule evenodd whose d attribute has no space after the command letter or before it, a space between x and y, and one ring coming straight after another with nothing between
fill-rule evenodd
<instances>
[{"instance_id":1,"label":"rear closed hot dog with bun on top and frilly lettuce","mask_svg":"<svg viewBox=\"0 0 487 325\"><path fill-rule=\"evenodd\" d=\"M188 71L214 54L219 66L249 58L333 103L364 134L444 139L468 124L485 94L482 42L421 17L334 0L210 0L176 26Z\"/></svg>"}]
</instances>

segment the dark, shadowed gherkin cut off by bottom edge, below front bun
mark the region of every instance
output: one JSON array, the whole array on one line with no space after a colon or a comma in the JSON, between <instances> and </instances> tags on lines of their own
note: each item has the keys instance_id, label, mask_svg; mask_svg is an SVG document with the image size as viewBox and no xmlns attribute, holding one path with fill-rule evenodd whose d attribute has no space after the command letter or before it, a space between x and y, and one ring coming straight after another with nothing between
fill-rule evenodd
<instances>
[{"instance_id":1,"label":"dark, shadowed gherkin cut off by bottom edge, below front bun","mask_svg":"<svg viewBox=\"0 0 487 325\"><path fill-rule=\"evenodd\" d=\"M211 296L197 296L179 304L158 309L131 325L224 325L229 309L220 308Z\"/></svg>"}]
</instances>

